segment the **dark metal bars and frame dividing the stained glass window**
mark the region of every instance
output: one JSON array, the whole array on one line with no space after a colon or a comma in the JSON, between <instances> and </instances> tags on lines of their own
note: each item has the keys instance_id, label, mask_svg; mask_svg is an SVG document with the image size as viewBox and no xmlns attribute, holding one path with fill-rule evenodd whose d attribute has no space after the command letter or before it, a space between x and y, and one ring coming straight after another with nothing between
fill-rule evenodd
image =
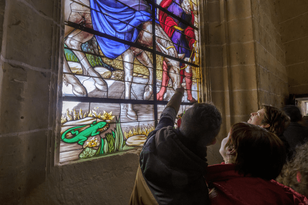
<instances>
[{"instance_id":1,"label":"dark metal bars and frame dividing the stained glass window","mask_svg":"<svg viewBox=\"0 0 308 205\"><path fill-rule=\"evenodd\" d=\"M119 0L115 0L117 2L120 2ZM197 83L197 86L198 86L198 102L200 103L201 101L203 101L202 97L203 97L203 74L205 73L203 70L201 70L201 64L202 64L202 60L201 60L201 56L204 55L204 52L201 51L201 32L200 32L200 28L196 28L194 25L191 25L190 23L188 22L185 22L183 20L181 20L180 17L174 15L173 13L169 12L168 10L166 10L165 8L162 8L160 5L157 5L156 3L153 4L153 2L155 2L155 0L144 0L146 1L147 3L151 4L152 5L152 9L151 9L151 21L152 21L152 39L153 39L153 46L152 48L148 48L148 47L144 47L142 45L139 45L137 43L133 43L133 42L128 42L127 40L123 40L123 39L120 39L120 38L117 38L117 37L113 37L113 36L110 36L108 34L105 34L105 33L102 33L102 32L99 32L99 31L95 31L93 29L90 29L90 28L87 28L87 27L83 27L79 24L75 24L73 22L65 22L64 21L64 18L63 19L63 23L65 26L70 26L70 27L73 27L75 29L79 29L81 31L85 31L85 32L88 32L88 33L91 33L93 35L98 35L98 36L101 36L101 37L104 37L104 38L108 38L108 39L111 39L111 40L115 40L116 42L119 42L119 43L123 43L123 44L126 44L128 46L133 46L133 47L136 47L136 48L140 48L142 50L145 50L145 51L149 51L152 53L152 64L153 64L153 100L140 100L140 99L118 99L118 98L100 98L100 97L80 97L80 96L62 96L62 92L59 91L59 93L61 93L61 96L60 96L60 104L61 106L58 106L60 109L58 110L58 114L59 116L57 116L57 121L61 118L61 115L62 115L62 102L63 101L78 101L78 102L83 102L83 103L117 103L117 104L133 104L133 105L136 105L136 104L143 104L143 105L153 105L154 107L154 116L155 116L155 127L157 126L157 123L158 123L158 105L167 105L168 101L159 101L157 100L157 98L155 97L156 94L157 94L157 85L156 85L156 82L157 82L157 76L156 76L156 71L157 71L157 60L156 60L156 56L157 55L160 55L162 57L168 57L168 58L171 58L171 59L174 59L176 61L179 61L180 63L184 63L184 64L187 64L187 65L190 65L190 66L193 66L195 68L197 68L199 70L199 83ZM197 5L197 12L198 12L198 25L199 27L201 27L201 13L200 13L200 8L201 8L201 4L203 4L202 1L199 1L198 5ZM62 7L63 9L63 7ZM188 61L185 61L185 60L182 60L182 59L179 59L179 58L175 58L175 57L172 57L172 56L169 56L169 55L166 55L164 53L161 53L159 51L156 50L156 32L155 32L155 23L156 22L156 12L155 10L156 9L160 9L162 10L163 12L167 13L169 16L172 16L176 19L179 19L181 20L182 23L186 24L187 26L190 26L191 28L194 28L195 30L197 30L198 32L198 48L199 48L199 59L200 59L200 63L199 65L196 65L196 64L193 64L193 63L190 63ZM62 15L63 12L62 12ZM71 49L71 48L67 48L67 47L64 47L64 34L61 35L62 37L62 42L61 42L61 45L60 45L60 52L64 52L64 49L69 49L69 50L74 50L74 49ZM154 49L155 48L155 49ZM62 50L61 50L62 49ZM80 52L80 50L79 50ZM84 52L86 53L86 52ZM89 53L91 55L94 55L94 56L101 56L101 55L96 55L96 54L93 54L93 53ZM60 90L62 90L62 79L63 79L63 63L64 63L64 59L62 57L62 55L60 55L60 59L61 59L61 64L60 64L60 72L59 72L59 81L58 83L60 84ZM196 69L196 70L197 70ZM197 72L196 72L197 73ZM198 78L198 76L196 76ZM186 102L183 102L181 105L183 106L190 106L192 105L192 103L186 103ZM62 163L60 163L60 141L61 141L61 123L57 125L57 132L56 132L56 137L55 137L55 154L54 154L54 162L55 162L55 165L61 165ZM123 151L120 151L120 152L123 152ZM112 152L114 153L114 152ZM112 153L107 153L107 154L112 154ZM106 155L107 155L106 154ZM105 154L104 154L105 155ZM99 156L102 156L102 155L99 155ZM93 157L91 157L93 158ZM77 161L79 159L76 159ZM67 163L67 162L70 162L70 161L66 161L66 162L63 162L63 164Z\"/></svg>"}]
</instances>

